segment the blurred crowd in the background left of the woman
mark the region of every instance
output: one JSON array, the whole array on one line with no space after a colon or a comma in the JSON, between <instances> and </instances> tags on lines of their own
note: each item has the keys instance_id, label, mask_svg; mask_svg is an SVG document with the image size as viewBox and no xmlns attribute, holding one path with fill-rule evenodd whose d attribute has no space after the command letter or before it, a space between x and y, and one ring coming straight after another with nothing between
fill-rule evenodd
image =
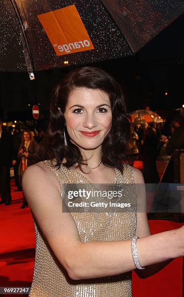
<instances>
[{"instance_id":1,"label":"blurred crowd in the background left of the woman","mask_svg":"<svg viewBox=\"0 0 184 297\"><path fill-rule=\"evenodd\" d=\"M15 128L2 125L0 119L0 204L9 205L12 201L10 168L14 167L17 191L21 191L22 176L26 168L37 163L37 148L45 132L40 128L30 131L17 124ZM21 208L28 206L25 198Z\"/></svg>"}]
</instances>

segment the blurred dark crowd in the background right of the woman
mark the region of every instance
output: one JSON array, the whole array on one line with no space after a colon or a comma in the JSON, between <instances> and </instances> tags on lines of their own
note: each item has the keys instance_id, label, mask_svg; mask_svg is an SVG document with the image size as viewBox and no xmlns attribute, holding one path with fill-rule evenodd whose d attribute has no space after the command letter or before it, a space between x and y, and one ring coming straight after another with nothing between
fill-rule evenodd
<instances>
[{"instance_id":1,"label":"blurred dark crowd in the background right of the woman","mask_svg":"<svg viewBox=\"0 0 184 297\"><path fill-rule=\"evenodd\" d=\"M166 123L132 125L126 157L130 165L143 161L146 183L159 182L156 160L160 155L172 155L175 149L184 149L184 117L177 115L169 126Z\"/></svg>"}]
</instances>

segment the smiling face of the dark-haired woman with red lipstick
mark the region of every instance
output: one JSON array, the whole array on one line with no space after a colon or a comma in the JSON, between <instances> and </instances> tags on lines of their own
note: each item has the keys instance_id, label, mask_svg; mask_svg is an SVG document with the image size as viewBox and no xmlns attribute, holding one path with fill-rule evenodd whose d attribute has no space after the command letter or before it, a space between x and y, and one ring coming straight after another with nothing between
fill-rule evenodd
<instances>
[{"instance_id":1,"label":"smiling face of the dark-haired woman with red lipstick","mask_svg":"<svg viewBox=\"0 0 184 297\"><path fill-rule=\"evenodd\" d=\"M98 148L112 124L109 97L99 89L74 89L64 113L70 141L84 149Z\"/></svg>"}]
</instances>

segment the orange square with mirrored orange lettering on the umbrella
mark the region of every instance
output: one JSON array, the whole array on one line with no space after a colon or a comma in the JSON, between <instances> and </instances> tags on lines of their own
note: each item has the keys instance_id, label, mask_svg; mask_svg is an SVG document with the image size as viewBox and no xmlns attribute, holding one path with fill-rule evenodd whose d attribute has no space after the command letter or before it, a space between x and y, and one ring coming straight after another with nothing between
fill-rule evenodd
<instances>
[{"instance_id":1,"label":"orange square with mirrored orange lettering on the umbrella","mask_svg":"<svg viewBox=\"0 0 184 297\"><path fill-rule=\"evenodd\" d=\"M37 17L58 56L94 49L75 5Z\"/></svg>"}]
</instances>

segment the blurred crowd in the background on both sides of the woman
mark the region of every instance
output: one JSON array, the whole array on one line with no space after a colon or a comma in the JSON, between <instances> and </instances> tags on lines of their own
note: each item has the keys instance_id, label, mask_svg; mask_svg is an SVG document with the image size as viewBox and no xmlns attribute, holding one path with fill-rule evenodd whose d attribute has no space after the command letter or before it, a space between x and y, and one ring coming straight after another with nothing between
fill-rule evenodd
<instances>
[{"instance_id":1,"label":"blurred crowd in the background on both sides of the woman","mask_svg":"<svg viewBox=\"0 0 184 297\"><path fill-rule=\"evenodd\" d=\"M169 129L168 129L169 128ZM14 167L17 191L21 191L21 180L24 171L37 163L37 148L45 132L40 129L23 129L16 126L2 125L0 119L0 204L11 203L10 168ZM184 117L177 115L169 126L166 123L134 123L131 136L126 146L126 159L130 165L135 160L143 161L143 175L146 183L158 183L159 175L156 160L160 155L172 155L175 149L184 149ZM27 207L23 198L21 208Z\"/></svg>"}]
</instances>

